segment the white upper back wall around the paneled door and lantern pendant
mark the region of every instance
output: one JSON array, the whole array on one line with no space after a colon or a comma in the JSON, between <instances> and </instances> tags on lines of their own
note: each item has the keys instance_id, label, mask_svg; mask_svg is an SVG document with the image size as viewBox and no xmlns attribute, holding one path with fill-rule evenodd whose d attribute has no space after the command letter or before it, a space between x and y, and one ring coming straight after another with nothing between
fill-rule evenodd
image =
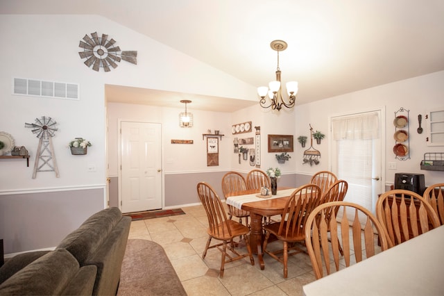
<instances>
[{"instance_id":1,"label":"white upper back wall around the paneled door and lantern pendant","mask_svg":"<svg viewBox=\"0 0 444 296\"><path fill-rule=\"evenodd\" d=\"M230 154L227 151L230 143L231 115L223 112L204 112L193 110L189 104L188 110L193 113L194 126L182 128L179 126L180 108L162 108L134 104L108 104L109 132L108 159L110 175L117 176L117 124L119 120L135 120L141 122L156 122L162 124L162 167L164 174L186 172L208 172L230 170ZM219 166L207 166L207 141L202 138L207 130L219 130L225 134L219 138ZM171 144L171 140L193 140L193 144Z\"/></svg>"}]
</instances>

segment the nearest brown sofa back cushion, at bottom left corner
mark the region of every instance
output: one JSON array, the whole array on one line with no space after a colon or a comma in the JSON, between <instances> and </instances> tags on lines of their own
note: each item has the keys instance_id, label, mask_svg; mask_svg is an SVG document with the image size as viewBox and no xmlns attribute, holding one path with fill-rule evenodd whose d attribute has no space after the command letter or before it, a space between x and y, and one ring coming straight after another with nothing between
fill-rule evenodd
<instances>
[{"instance_id":1,"label":"nearest brown sofa back cushion, at bottom left corner","mask_svg":"<svg viewBox=\"0 0 444 296\"><path fill-rule=\"evenodd\" d=\"M77 292L91 295L96 268L80 269L78 262L65 249L49 252L1 283L0 295L61 295ZM82 279L83 282L70 283ZM69 287L77 290L67 290Z\"/></svg>"}]
</instances>

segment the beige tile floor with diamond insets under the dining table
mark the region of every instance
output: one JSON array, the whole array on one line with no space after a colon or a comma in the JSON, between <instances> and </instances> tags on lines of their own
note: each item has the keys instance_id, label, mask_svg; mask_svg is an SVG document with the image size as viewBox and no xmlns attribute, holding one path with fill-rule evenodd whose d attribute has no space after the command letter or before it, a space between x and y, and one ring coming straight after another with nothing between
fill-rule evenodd
<instances>
[{"instance_id":1,"label":"beige tile floor with diamond insets under the dining table","mask_svg":"<svg viewBox=\"0 0 444 296\"><path fill-rule=\"evenodd\" d=\"M265 270L260 270L257 256L253 255L254 266L248 257L226 263L221 279L221 252L209 249L205 260L202 259L208 238L205 210L202 206L182 210L186 215L131 222L129 238L153 240L162 245L189 296L303 295L302 286L316 279L307 254L289 257L287 279L283 277L283 265L268 255L264 255ZM282 246L279 244L273 242L268 247Z\"/></svg>"}]
</instances>

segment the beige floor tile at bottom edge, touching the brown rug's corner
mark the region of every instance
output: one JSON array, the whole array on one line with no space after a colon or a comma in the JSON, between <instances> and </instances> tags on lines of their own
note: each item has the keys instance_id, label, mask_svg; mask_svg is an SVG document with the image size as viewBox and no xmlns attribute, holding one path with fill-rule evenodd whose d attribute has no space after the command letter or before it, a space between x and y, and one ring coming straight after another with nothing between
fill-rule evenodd
<instances>
[{"instance_id":1,"label":"beige floor tile at bottom edge, touching the brown rug's corner","mask_svg":"<svg viewBox=\"0 0 444 296\"><path fill-rule=\"evenodd\" d=\"M189 296L230 295L216 277L197 277L188 281L182 281L182 285Z\"/></svg>"}]
</instances>

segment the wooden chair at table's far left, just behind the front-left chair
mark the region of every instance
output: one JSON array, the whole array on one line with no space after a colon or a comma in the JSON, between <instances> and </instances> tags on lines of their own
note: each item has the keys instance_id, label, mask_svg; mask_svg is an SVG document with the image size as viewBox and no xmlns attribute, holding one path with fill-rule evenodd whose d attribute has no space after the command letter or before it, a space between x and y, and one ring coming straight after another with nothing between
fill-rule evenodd
<instances>
[{"instance_id":1,"label":"wooden chair at table's far left, just behind the front-left chair","mask_svg":"<svg viewBox=\"0 0 444 296\"><path fill-rule=\"evenodd\" d=\"M235 192L247 190L247 183L239 172L228 172L222 177L222 192L225 200L230 198ZM230 219L234 217L239 218L239 222L242 223L242 218L245 218L246 225L248 225L248 217L250 217L250 212L236 208L235 206L228 206L228 215Z\"/></svg>"}]
</instances>

